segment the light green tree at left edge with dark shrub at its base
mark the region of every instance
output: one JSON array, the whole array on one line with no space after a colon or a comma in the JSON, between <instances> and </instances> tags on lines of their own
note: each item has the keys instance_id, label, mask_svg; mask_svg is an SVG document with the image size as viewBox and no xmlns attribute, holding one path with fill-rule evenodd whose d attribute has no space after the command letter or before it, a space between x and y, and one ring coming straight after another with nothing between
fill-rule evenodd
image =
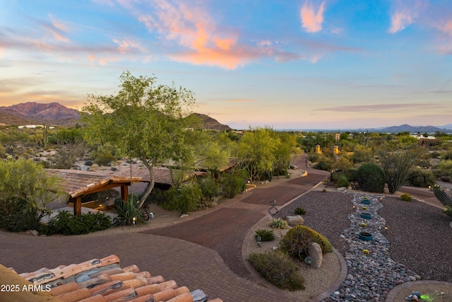
<instances>
[{"instance_id":1,"label":"light green tree at left edge with dark shrub at its base","mask_svg":"<svg viewBox=\"0 0 452 302\"><path fill-rule=\"evenodd\" d=\"M11 231L32 228L64 194L61 180L32 160L0 161L0 175L0 221Z\"/></svg>"}]
</instances>

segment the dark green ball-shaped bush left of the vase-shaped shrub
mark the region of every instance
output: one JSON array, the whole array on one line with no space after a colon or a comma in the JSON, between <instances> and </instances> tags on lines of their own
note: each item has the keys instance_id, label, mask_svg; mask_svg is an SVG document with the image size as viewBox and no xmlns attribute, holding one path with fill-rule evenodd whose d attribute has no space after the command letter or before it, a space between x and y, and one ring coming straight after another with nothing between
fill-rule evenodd
<instances>
[{"instance_id":1,"label":"dark green ball-shaped bush left of the vase-shaped shrub","mask_svg":"<svg viewBox=\"0 0 452 302\"><path fill-rule=\"evenodd\" d=\"M357 170L357 181L361 190L382 193L386 178L383 170L375 163L364 163Z\"/></svg>"}]
</instances>

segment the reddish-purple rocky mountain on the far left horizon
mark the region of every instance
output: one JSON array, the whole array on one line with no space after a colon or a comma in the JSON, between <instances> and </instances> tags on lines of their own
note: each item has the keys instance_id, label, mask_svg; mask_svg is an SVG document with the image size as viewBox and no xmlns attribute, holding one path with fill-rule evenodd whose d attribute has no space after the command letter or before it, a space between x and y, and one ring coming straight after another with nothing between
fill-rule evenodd
<instances>
[{"instance_id":1,"label":"reddish-purple rocky mountain on the far left horizon","mask_svg":"<svg viewBox=\"0 0 452 302\"><path fill-rule=\"evenodd\" d=\"M66 108L59 103L20 103L11 106L1 106L0 123L4 124L62 124L74 125L80 119L75 109ZM11 120L6 117L18 117L20 120ZM4 122L4 118L9 122Z\"/></svg>"}]
</instances>

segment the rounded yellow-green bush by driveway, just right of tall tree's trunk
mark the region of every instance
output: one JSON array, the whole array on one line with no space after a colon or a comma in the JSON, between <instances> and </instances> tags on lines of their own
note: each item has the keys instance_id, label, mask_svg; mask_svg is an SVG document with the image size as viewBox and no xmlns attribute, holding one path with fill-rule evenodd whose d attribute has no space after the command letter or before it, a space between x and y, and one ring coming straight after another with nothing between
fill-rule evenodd
<instances>
[{"instance_id":1,"label":"rounded yellow-green bush by driveway, just right of tall tree's trunk","mask_svg":"<svg viewBox=\"0 0 452 302\"><path fill-rule=\"evenodd\" d=\"M167 202L162 204L164 209L179 211L180 214L188 214L195 211L201 202L201 189L196 183L172 187L166 192Z\"/></svg>"}]
</instances>

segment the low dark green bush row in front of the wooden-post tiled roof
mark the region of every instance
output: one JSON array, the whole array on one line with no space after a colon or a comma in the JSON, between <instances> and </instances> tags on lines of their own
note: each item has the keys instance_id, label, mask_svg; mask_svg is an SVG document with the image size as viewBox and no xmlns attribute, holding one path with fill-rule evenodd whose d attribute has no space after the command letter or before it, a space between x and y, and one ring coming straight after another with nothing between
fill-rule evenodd
<instances>
[{"instance_id":1,"label":"low dark green bush row in front of the wooden-post tiled roof","mask_svg":"<svg viewBox=\"0 0 452 302\"><path fill-rule=\"evenodd\" d=\"M104 213L87 213L75 216L69 211L59 211L47 225L42 225L40 233L47 236L55 233L63 235L82 235L102 231L112 225L112 219Z\"/></svg>"}]
</instances>

